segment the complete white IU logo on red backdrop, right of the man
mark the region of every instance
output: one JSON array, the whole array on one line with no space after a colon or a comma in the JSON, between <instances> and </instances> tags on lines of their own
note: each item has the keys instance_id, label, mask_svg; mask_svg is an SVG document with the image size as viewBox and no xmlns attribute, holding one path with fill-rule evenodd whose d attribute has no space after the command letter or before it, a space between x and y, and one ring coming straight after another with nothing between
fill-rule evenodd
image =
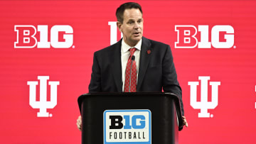
<instances>
[{"instance_id":1,"label":"complete white IU logo on red backdrop, right of the man","mask_svg":"<svg viewBox=\"0 0 256 144\"><path fill-rule=\"evenodd\" d=\"M220 82L210 82L211 89L211 101L208 101L208 80L210 77L198 77L201 80L201 101L196 101L197 97L197 86L199 82L188 82L188 85L191 86L191 106L193 109L201 109L201 112L198 113L198 118L210 118L213 115L208 113L208 109L215 109L218 106L218 86Z\"/></svg>"}]
</instances>

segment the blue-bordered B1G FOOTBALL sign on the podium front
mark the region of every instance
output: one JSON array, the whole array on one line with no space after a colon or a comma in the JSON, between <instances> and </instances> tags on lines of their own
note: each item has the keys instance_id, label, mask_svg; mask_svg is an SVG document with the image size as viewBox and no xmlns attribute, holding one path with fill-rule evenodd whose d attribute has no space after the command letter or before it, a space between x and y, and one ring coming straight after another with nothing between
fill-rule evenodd
<instances>
[{"instance_id":1,"label":"blue-bordered B1G FOOTBALL sign on the podium front","mask_svg":"<svg viewBox=\"0 0 256 144\"><path fill-rule=\"evenodd\" d=\"M104 143L151 144L151 111L104 111Z\"/></svg>"}]
</instances>

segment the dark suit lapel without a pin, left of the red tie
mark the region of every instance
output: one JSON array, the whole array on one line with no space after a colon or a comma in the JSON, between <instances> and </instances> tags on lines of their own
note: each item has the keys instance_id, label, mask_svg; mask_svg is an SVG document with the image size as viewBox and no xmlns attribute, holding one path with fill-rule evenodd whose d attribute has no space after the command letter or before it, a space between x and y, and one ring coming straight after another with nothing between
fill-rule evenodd
<instances>
[{"instance_id":1,"label":"dark suit lapel without a pin, left of the red tie","mask_svg":"<svg viewBox=\"0 0 256 144\"><path fill-rule=\"evenodd\" d=\"M112 77L117 86L117 91L122 92L122 64L121 64L121 40L114 46L112 55Z\"/></svg>"}]
</instances>

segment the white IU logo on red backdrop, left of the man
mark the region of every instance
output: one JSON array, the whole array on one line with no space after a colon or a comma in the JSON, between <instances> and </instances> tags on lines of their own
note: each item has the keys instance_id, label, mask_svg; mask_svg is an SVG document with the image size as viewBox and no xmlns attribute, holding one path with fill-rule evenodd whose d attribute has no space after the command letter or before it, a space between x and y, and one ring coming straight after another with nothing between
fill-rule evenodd
<instances>
[{"instance_id":1,"label":"white IU logo on red backdrop, left of the man","mask_svg":"<svg viewBox=\"0 0 256 144\"><path fill-rule=\"evenodd\" d=\"M47 101L47 80L49 76L38 76L40 81L40 101L36 101L36 86L38 85L37 81L28 81L29 85L29 105L33 109L40 109L37 113L38 117L51 117L52 114L49 114L46 109L53 109L57 105L57 85L60 82L50 81L50 101Z\"/></svg>"}]
</instances>

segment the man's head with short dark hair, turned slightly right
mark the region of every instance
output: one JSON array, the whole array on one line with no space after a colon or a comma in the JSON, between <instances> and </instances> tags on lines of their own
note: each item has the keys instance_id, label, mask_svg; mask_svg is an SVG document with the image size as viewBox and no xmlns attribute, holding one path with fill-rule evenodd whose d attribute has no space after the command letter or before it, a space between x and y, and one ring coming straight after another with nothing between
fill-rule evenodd
<instances>
[{"instance_id":1,"label":"man's head with short dark hair, turned slightly right","mask_svg":"<svg viewBox=\"0 0 256 144\"><path fill-rule=\"evenodd\" d=\"M117 27L123 33L124 42L135 46L143 35L142 7L133 2L119 6L116 12Z\"/></svg>"}]
</instances>

